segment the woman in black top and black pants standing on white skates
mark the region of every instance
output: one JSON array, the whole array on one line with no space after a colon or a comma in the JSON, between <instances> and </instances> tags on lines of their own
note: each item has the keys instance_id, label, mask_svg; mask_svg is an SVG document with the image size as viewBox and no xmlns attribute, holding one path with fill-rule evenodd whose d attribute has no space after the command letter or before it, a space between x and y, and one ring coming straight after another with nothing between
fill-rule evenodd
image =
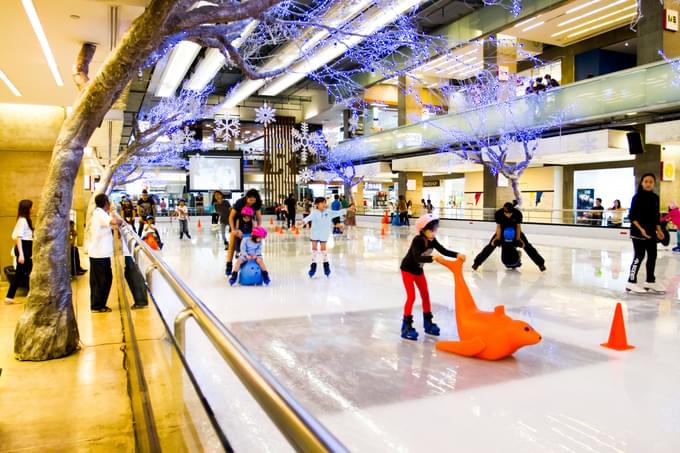
<instances>
[{"instance_id":1,"label":"woman in black top and black pants standing on white skates","mask_svg":"<svg viewBox=\"0 0 680 453\"><path fill-rule=\"evenodd\" d=\"M630 275L626 291L634 293L664 294L665 291L656 284L654 268L656 267L656 243L663 239L661 230L661 214L659 212L659 196L654 193L656 177L652 173L642 175L640 185L630 204L630 237L633 240L635 257L630 266ZM644 285L637 284L637 273L640 264L647 255L647 278Z\"/></svg>"}]
</instances>

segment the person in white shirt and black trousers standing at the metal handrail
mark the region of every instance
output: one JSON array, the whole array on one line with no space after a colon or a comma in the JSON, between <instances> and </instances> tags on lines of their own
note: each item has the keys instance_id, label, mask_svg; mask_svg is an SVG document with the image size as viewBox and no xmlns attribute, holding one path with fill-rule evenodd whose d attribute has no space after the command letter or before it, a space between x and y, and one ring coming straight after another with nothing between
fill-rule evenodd
<instances>
[{"instance_id":1,"label":"person in white shirt and black trousers standing at the metal handrail","mask_svg":"<svg viewBox=\"0 0 680 453\"><path fill-rule=\"evenodd\" d=\"M113 283L111 257L113 257L112 226L120 225L123 220L109 214L111 203L109 197L100 193L94 197L96 206L92 213L92 237L88 248L90 258L90 310L97 313L107 313L111 309L106 306Z\"/></svg>"}]
</instances>

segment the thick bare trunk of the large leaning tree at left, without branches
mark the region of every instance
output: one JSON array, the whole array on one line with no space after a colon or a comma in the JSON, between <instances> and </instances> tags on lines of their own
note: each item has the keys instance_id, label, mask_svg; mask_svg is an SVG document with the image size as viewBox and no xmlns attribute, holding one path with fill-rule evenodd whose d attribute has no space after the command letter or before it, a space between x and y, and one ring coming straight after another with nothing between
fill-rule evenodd
<instances>
[{"instance_id":1,"label":"thick bare trunk of the large leaning tree at left, without branches","mask_svg":"<svg viewBox=\"0 0 680 453\"><path fill-rule=\"evenodd\" d=\"M61 128L40 199L33 242L31 291L14 334L19 360L48 360L78 349L68 270L73 185L87 145L122 90L164 38L174 0L152 0L101 71L89 81Z\"/></svg>"}]
</instances>

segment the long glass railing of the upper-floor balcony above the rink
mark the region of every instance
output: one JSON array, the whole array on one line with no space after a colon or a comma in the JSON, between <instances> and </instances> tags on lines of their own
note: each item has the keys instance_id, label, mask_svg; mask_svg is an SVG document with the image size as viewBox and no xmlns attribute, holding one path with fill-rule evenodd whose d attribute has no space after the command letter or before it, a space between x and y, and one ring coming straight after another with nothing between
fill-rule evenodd
<instances>
[{"instance_id":1,"label":"long glass railing of the upper-floor balcony above the rink","mask_svg":"<svg viewBox=\"0 0 680 453\"><path fill-rule=\"evenodd\" d=\"M561 115L562 124L567 125L632 112L672 109L680 106L680 89L674 85L678 78L680 74L661 61L553 88L541 95L546 98L540 103L535 101L536 95L521 96L510 101L517 114L514 122L520 127L536 127L545 124L547 118ZM505 124L502 113L494 106L483 107L483 110L485 132L497 133ZM347 140L337 149L349 159L362 161L436 148L450 142L447 131L471 132L471 125L479 117L477 110L450 113Z\"/></svg>"}]
</instances>

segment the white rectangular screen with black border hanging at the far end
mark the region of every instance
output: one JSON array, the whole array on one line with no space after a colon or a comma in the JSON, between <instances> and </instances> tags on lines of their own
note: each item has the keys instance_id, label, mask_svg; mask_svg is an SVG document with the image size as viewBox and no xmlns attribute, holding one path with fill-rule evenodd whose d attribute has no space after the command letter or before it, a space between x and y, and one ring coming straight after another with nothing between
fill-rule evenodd
<instances>
[{"instance_id":1,"label":"white rectangular screen with black border hanging at the far end","mask_svg":"<svg viewBox=\"0 0 680 453\"><path fill-rule=\"evenodd\" d=\"M243 159L232 156L193 156L189 158L191 192L222 190L243 192Z\"/></svg>"}]
</instances>

